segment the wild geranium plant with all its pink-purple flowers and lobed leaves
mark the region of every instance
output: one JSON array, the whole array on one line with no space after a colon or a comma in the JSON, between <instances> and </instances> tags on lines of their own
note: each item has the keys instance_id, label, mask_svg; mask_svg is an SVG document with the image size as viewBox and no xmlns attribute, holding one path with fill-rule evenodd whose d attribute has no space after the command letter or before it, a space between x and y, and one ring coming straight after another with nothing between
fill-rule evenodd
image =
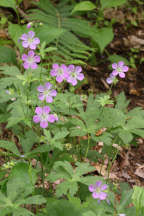
<instances>
[{"instance_id":1,"label":"wild geranium plant with all its pink-purple flowers and lobed leaves","mask_svg":"<svg viewBox=\"0 0 144 216\"><path fill-rule=\"evenodd\" d=\"M116 98L109 92L75 94L71 87L83 83L84 68L67 62L46 65L45 59L43 63L34 31L20 39L25 49L22 71L0 67L2 122L7 122L18 142L0 141L6 150L2 154L8 162L14 160L3 166L0 175L1 216L142 216L138 190L123 186L119 190L108 178L118 146L128 147L138 136L144 137L144 111L129 110L124 93ZM128 72L124 62L113 63L112 68L108 84ZM95 150L99 142L101 153ZM94 174L92 164L103 163L105 154L109 166L102 178Z\"/></svg>"}]
</instances>

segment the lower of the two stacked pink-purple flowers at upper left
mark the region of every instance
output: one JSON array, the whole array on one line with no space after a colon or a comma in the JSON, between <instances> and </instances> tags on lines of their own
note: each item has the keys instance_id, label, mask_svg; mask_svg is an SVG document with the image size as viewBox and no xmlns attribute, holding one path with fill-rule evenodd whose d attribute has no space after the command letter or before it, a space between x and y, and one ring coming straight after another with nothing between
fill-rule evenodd
<instances>
[{"instance_id":1,"label":"lower of the two stacked pink-purple flowers at upper left","mask_svg":"<svg viewBox=\"0 0 144 216\"><path fill-rule=\"evenodd\" d=\"M37 63L40 62L40 56L35 55L34 51L29 51L28 55L23 54L22 60L24 61L23 66L25 69L36 69Z\"/></svg>"}]
</instances>

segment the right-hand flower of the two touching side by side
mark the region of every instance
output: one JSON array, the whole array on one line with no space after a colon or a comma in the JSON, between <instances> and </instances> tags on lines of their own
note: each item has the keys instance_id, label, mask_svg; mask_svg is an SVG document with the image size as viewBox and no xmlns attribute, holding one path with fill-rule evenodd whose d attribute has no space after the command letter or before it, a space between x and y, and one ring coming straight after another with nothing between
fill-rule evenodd
<instances>
[{"instance_id":1,"label":"right-hand flower of the two touching side by side","mask_svg":"<svg viewBox=\"0 0 144 216\"><path fill-rule=\"evenodd\" d=\"M77 80L83 80L84 79L84 74L82 72L82 67L80 66L74 66L74 65L69 65L68 66L68 77L67 77L67 82L71 83L73 86L77 84Z\"/></svg>"}]
</instances>

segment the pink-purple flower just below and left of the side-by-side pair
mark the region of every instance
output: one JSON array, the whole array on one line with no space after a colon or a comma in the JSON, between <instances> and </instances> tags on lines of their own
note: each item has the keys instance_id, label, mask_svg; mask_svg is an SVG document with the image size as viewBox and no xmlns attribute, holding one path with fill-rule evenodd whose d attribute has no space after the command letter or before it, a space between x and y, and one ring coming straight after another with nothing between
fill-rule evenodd
<instances>
[{"instance_id":1,"label":"pink-purple flower just below and left of the side-by-side pair","mask_svg":"<svg viewBox=\"0 0 144 216\"><path fill-rule=\"evenodd\" d=\"M53 97L57 95L57 91L53 89L51 83L47 82L45 85L38 86L37 90L40 92L38 98L43 101L46 100L47 103L53 102Z\"/></svg>"}]
</instances>

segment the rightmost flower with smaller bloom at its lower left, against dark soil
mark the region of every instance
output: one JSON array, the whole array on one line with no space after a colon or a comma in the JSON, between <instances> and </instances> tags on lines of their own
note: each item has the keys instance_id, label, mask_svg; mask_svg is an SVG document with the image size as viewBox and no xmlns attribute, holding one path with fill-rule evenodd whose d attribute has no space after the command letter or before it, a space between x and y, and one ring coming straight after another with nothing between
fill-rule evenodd
<instances>
[{"instance_id":1,"label":"rightmost flower with smaller bloom at its lower left, against dark soil","mask_svg":"<svg viewBox=\"0 0 144 216\"><path fill-rule=\"evenodd\" d=\"M113 71L110 76L106 79L108 84L113 83L116 80L117 75L120 78L125 78L125 73L128 71L128 66L124 65L123 61L112 64Z\"/></svg>"}]
</instances>

